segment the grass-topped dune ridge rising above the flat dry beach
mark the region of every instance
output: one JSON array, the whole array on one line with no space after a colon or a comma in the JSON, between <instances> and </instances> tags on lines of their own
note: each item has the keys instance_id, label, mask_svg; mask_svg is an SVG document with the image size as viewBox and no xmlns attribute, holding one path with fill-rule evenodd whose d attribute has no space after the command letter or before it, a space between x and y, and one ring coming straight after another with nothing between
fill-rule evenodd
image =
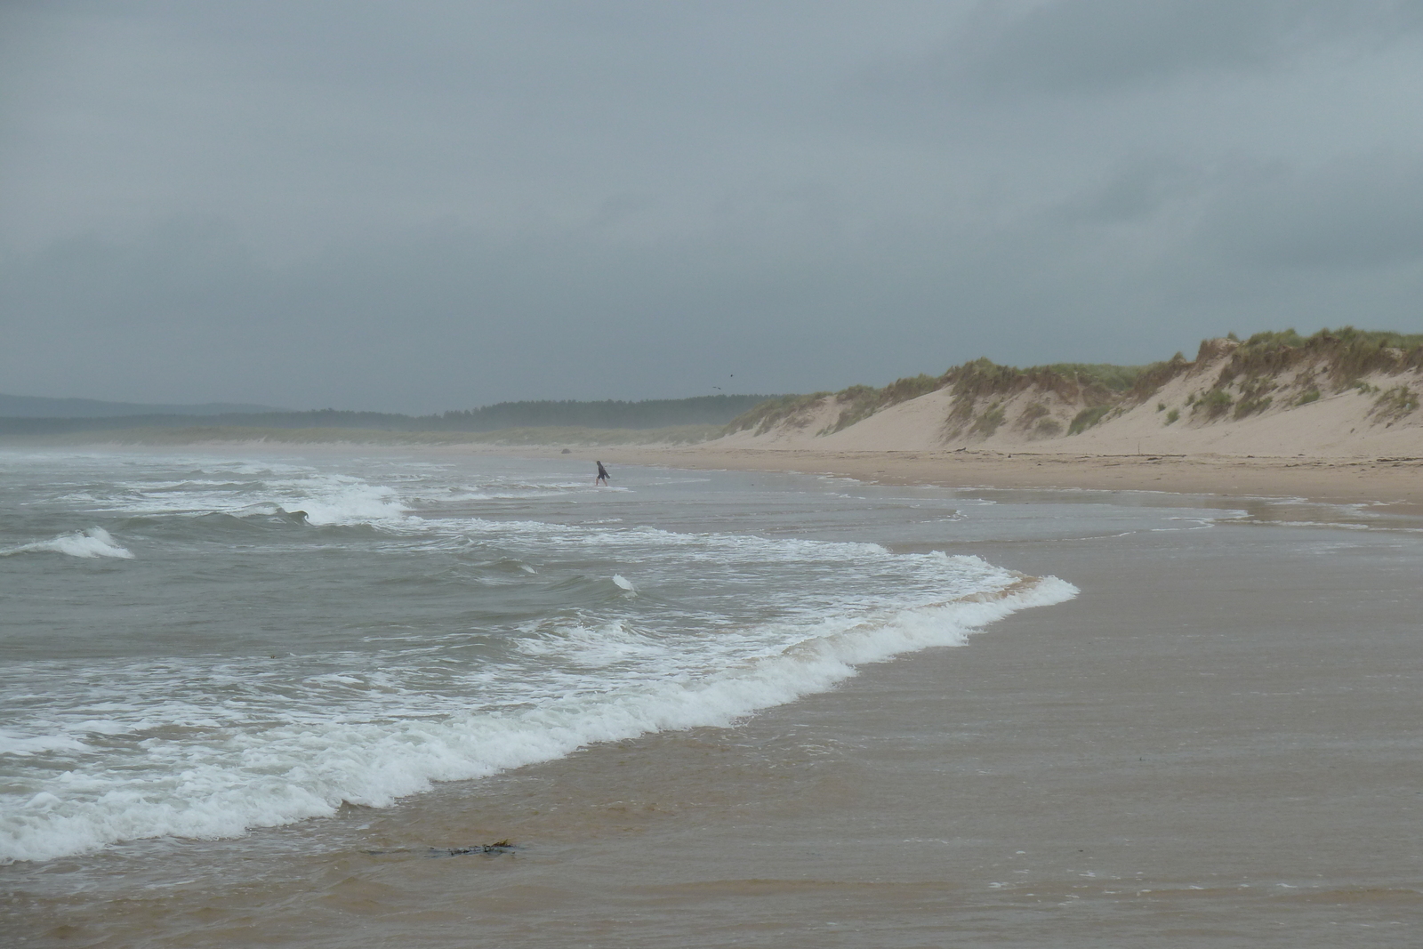
<instances>
[{"instance_id":1,"label":"grass-topped dune ridge rising above the flat dry beach","mask_svg":"<svg viewBox=\"0 0 1423 949\"><path fill-rule=\"evenodd\" d=\"M941 377L763 403L723 448L1033 454L1423 455L1423 336L1343 329L1204 340L1146 367ZM709 445L710 447L710 445Z\"/></svg>"}]
</instances>

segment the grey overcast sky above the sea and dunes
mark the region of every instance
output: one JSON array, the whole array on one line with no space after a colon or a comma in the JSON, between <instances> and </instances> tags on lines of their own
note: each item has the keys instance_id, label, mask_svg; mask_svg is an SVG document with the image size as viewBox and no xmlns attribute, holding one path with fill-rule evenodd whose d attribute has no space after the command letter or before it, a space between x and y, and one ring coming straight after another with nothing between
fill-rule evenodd
<instances>
[{"instance_id":1,"label":"grey overcast sky above the sea and dunes","mask_svg":"<svg viewBox=\"0 0 1423 949\"><path fill-rule=\"evenodd\" d=\"M1423 332L1423 1L6 0L0 391L437 411Z\"/></svg>"}]
</instances>

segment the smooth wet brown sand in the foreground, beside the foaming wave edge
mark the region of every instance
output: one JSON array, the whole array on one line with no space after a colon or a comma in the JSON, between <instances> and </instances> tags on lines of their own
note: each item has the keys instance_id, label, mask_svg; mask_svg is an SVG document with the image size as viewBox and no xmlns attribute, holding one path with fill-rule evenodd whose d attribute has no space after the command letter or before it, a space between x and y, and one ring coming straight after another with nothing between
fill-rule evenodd
<instances>
[{"instance_id":1,"label":"smooth wet brown sand in the foreground, beside the foaming wave edge","mask_svg":"<svg viewBox=\"0 0 1423 949\"><path fill-rule=\"evenodd\" d=\"M347 808L334 849L327 827L302 852L313 824L256 849L148 844L171 852L152 879L115 899L11 898L11 932L104 946L1423 940L1419 534L1239 524L935 546L1081 595L734 728ZM504 838L518 849L430 851ZM102 859L117 881L124 857Z\"/></svg>"}]
</instances>

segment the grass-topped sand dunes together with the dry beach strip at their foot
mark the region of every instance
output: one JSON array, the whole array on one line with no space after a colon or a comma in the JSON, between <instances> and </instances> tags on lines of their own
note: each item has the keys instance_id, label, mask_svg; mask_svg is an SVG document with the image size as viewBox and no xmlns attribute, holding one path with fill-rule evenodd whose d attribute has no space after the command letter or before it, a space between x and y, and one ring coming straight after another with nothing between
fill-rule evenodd
<instances>
[{"instance_id":1,"label":"grass-topped sand dunes together with the dry beach strip at their foot","mask_svg":"<svg viewBox=\"0 0 1423 949\"><path fill-rule=\"evenodd\" d=\"M898 484L1302 497L1423 515L1423 347L1380 346L1382 334L1262 336L1207 340L1195 360L1147 367L1117 390L1054 367L969 363L904 380L912 386L901 391L929 391L899 401L894 387L783 401L714 441L619 457Z\"/></svg>"}]
</instances>

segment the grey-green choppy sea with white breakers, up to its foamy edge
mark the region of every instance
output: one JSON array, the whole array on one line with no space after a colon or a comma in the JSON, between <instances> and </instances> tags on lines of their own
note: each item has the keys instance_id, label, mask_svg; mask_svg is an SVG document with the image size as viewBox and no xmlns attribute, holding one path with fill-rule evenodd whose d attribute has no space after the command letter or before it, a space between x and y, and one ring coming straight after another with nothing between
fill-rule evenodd
<instances>
[{"instance_id":1,"label":"grey-green choppy sea with white breakers, up to its foamy edge","mask_svg":"<svg viewBox=\"0 0 1423 949\"><path fill-rule=\"evenodd\" d=\"M7 455L0 859L235 838L727 726L1074 593L885 545L1023 529L988 502L591 470Z\"/></svg>"}]
</instances>

